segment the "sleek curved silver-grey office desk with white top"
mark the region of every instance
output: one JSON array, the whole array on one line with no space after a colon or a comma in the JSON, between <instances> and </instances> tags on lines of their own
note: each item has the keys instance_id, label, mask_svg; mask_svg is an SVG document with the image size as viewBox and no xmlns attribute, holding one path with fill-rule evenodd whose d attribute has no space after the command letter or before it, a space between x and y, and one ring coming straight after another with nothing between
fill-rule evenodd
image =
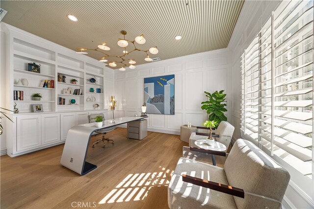
<instances>
[{"instance_id":1,"label":"sleek curved silver-grey office desk with white top","mask_svg":"<svg viewBox=\"0 0 314 209\"><path fill-rule=\"evenodd\" d=\"M86 155L89 147L90 137L97 130L112 130L118 125L129 123L131 121L143 120L145 117L121 117L115 118L115 122L105 120L103 126L97 128L95 123L87 123L72 127L68 131L67 139L64 144L60 163L74 172L85 175L97 168L97 165L86 162Z\"/></svg>"}]
</instances>

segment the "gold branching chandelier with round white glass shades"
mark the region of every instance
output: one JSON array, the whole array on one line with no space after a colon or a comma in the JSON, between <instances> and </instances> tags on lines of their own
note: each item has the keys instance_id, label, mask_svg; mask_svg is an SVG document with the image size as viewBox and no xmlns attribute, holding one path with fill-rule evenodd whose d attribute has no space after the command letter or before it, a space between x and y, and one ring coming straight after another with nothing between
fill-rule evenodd
<instances>
[{"instance_id":1,"label":"gold branching chandelier with round white glass shades","mask_svg":"<svg viewBox=\"0 0 314 209\"><path fill-rule=\"evenodd\" d=\"M112 56L112 55L109 55L103 51L109 51L110 48L108 46L106 46L106 43L102 44L102 45L98 45L96 49L87 49L87 48L77 48L78 52L77 53L82 53L82 54L87 54L86 51L88 50L92 50L92 51L97 51L97 52L102 52L105 54L105 56L103 56L99 61L100 62L107 62L107 57L116 57L116 58L120 58L121 61L112 61L112 62L109 62L107 65L109 65L110 67L116 67L117 66L117 63L121 63L123 64L123 67L121 67L119 70L120 71L125 71L126 70L126 67L129 67L130 69L135 69L135 63L136 61L134 59L125 59L125 56L134 52L134 51L140 51L140 52L145 52L146 53L146 57L145 57L145 61L147 62L151 62L153 59L149 57L149 53L150 52L151 54L157 54L158 53L158 49L157 47L152 47L150 48L149 50L141 50L141 49L138 49L136 48L135 46L135 42L137 44L145 44L146 42L146 39L144 38L144 35L140 35L140 36L137 36L135 38L134 41L130 41L130 40L127 40L125 38L125 36L127 35L127 31L125 30L122 30L120 32L122 35L123 35L123 39L118 39L118 46L119 47L122 47L124 48L124 51L123 51L123 55L122 56ZM129 43L133 44L134 46L134 49L131 51L131 52L127 52L127 49L126 47L129 45ZM126 63L128 62L128 63Z\"/></svg>"}]
</instances>

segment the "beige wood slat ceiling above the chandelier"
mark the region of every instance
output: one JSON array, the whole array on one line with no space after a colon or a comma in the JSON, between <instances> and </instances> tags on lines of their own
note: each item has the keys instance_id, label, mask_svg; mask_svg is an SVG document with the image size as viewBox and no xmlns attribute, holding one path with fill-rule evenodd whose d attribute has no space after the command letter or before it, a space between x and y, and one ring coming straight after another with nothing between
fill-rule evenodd
<instances>
[{"instance_id":1,"label":"beige wood slat ceiling above the chandelier","mask_svg":"<svg viewBox=\"0 0 314 209\"><path fill-rule=\"evenodd\" d=\"M137 48L157 46L150 57L161 60L227 48L244 0L1 0L8 11L4 23L50 40L72 50L95 49L106 42L106 53L123 55L117 45L126 30L126 39L144 34L146 43ZM73 14L78 22L67 18ZM175 40L176 35L181 40ZM127 51L131 51L131 44ZM103 54L89 51L99 60ZM132 52L127 59L144 61L145 52ZM121 61L108 58L109 61ZM121 67L118 64L117 67Z\"/></svg>"}]
</instances>

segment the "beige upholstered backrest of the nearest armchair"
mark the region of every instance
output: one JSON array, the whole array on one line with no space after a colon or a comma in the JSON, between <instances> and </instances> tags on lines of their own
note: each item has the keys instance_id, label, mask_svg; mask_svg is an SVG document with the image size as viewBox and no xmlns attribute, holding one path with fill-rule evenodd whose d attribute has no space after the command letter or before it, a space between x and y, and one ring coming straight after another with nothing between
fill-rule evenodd
<instances>
[{"instance_id":1,"label":"beige upholstered backrest of the nearest armchair","mask_svg":"<svg viewBox=\"0 0 314 209\"><path fill-rule=\"evenodd\" d=\"M230 185L279 201L282 201L290 179L286 169L252 142L243 139L236 140L224 169ZM237 208L259 208L261 201L261 198L235 197Z\"/></svg>"}]
</instances>

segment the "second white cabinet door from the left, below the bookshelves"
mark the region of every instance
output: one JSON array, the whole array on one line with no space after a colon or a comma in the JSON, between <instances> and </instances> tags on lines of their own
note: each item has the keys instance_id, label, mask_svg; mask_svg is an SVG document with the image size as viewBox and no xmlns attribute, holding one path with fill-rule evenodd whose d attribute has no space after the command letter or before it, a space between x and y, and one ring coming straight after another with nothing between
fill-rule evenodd
<instances>
[{"instance_id":1,"label":"second white cabinet door from the left, below the bookshelves","mask_svg":"<svg viewBox=\"0 0 314 209\"><path fill-rule=\"evenodd\" d=\"M43 114L41 121L42 145L60 141L60 114Z\"/></svg>"}]
</instances>

